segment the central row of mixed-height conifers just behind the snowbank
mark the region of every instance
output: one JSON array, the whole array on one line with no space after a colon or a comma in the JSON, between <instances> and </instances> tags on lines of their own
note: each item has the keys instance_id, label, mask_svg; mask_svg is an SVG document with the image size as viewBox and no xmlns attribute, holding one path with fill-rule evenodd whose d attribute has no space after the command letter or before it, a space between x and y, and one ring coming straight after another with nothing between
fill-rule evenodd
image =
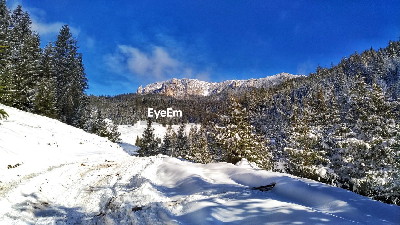
<instances>
[{"instance_id":1,"label":"central row of mixed-height conifers just behind the snowbank","mask_svg":"<svg viewBox=\"0 0 400 225\"><path fill-rule=\"evenodd\" d=\"M178 133L172 125L166 129L164 138L155 138L153 117L146 121L142 136L137 136L135 145L140 147L137 156L169 155L197 163L225 161L236 163L243 158L257 163L262 169L272 169L272 154L262 135L253 133L245 108L232 99L227 115L219 115L219 122L203 123L190 127L186 134L186 122L181 120Z\"/></svg>"}]
</instances>

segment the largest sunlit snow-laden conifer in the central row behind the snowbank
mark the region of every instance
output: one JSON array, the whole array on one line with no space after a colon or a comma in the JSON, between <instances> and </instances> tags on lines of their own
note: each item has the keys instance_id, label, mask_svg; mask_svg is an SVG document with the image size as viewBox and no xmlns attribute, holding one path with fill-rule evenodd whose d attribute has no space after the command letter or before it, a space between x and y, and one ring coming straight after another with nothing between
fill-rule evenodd
<instances>
[{"instance_id":1,"label":"largest sunlit snow-laden conifer in the central row behind the snowbank","mask_svg":"<svg viewBox=\"0 0 400 225\"><path fill-rule=\"evenodd\" d=\"M254 127L248 120L246 109L236 100L232 101L228 115L220 115L222 125L215 125L217 132L212 134L222 151L222 160L236 163L245 158L260 163L257 143L251 133Z\"/></svg>"}]
</instances>

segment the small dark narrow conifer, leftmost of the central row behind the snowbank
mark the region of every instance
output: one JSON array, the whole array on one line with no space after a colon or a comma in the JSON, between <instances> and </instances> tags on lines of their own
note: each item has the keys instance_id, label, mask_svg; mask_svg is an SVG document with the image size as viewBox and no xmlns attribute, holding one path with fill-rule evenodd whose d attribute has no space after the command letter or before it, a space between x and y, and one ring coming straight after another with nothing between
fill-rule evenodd
<instances>
[{"instance_id":1,"label":"small dark narrow conifer, leftmost of the central row behind the snowbank","mask_svg":"<svg viewBox=\"0 0 400 225\"><path fill-rule=\"evenodd\" d=\"M153 117L148 117L147 127L144 129L142 146L136 151L139 156L151 156L158 153L158 141L155 139L154 128L152 128Z\"/></svg>"}]
</instances>

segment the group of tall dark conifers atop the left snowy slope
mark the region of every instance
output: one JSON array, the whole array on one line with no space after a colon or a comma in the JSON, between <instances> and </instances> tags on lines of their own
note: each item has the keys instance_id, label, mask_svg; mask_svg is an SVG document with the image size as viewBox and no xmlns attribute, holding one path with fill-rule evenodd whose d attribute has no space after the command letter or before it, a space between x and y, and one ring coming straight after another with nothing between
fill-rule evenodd
<instances>
[{"instance_id":1,"label":"group of tall dark conifers atop the left snowy slope","mask_svg":"<svg viewBox=\"0 0 400 225\"><path fill-rule=\"evenodd\" d=\"M64 25L56 41L42 49L31 25L21 5L11 12L6 1L0 0L0 103L118 142L116 127L103 117L94 117L96 110L89 110L88 79L70 27Z\"/></svg>"}]
</instances>

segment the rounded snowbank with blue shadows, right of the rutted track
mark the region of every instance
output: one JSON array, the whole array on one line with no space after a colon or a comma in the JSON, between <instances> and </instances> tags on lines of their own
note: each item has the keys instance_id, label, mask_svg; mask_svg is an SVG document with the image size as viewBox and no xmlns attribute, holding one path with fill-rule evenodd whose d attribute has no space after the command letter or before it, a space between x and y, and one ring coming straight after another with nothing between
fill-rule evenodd
<instances>
[{"instance_id":1,"label":"rounded snowbank with blue shadows, right of the rutted track","mask_svg":"<svg viewBox=\"0 0 400 225\"><path fill-rule=\"evenodd\" d=\"M398 224L400 207L309 179L198 164L172 157L149 161L120 195L109 224ZM248 165L247 165L248 166ZM247 167L246 166L246 167ZM270 191L251 187L275 184Z\"/></svg>"}]
</instances>

